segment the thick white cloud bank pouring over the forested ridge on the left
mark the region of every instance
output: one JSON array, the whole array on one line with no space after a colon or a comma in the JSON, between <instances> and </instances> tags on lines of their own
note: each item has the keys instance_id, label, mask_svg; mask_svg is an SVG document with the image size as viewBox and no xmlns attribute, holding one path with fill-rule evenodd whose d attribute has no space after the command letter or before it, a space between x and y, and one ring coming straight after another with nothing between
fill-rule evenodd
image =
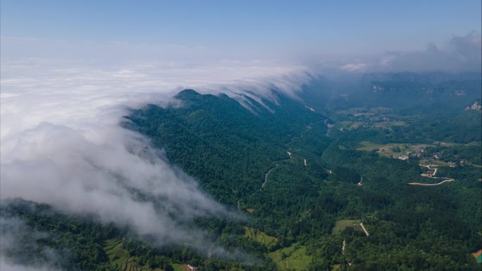
<instances>
[{"instance_id":1,"label":"thick white cloud bank pouring over the forested ridge on the left","mask_svg":"<svg viewBox=\"0 0 482 271\"><path fill-rule=\"evenodd\" d=\"M22 58L1 64L0 197L127 225L159 245L199 239L202 233L187 223L194 218L233 214L149 139L123 129L128 109L182 106L171 97L187 87L294 95L307 76L297 66L257 62L98 68Z\"/></svg>"}]
</instances>

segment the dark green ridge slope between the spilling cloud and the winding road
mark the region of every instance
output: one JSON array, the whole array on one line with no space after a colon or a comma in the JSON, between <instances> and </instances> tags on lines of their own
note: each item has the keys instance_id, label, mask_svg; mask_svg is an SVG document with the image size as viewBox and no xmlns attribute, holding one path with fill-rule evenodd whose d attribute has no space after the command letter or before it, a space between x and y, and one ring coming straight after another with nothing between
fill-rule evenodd
<instances>
[{"instance_id":1,"label":"dark green ridge slope between the spilling cloud and the winding road","mask_svg":"<svg viewBox=\"0 0 482 271\"><path fill-rule=\"evenodd\" d=\"M258 113L254 115L225 95L185 90L176 97L186 106L147 106L129 119L165 148L173 163L198 177L218 200L230 204L259 189L273 161L287 158L285 144L319 118L306 108L292 106L283 96L279 99L285 111L277 115L261 105L254 108Z\"/></svg>"}]
</instances>

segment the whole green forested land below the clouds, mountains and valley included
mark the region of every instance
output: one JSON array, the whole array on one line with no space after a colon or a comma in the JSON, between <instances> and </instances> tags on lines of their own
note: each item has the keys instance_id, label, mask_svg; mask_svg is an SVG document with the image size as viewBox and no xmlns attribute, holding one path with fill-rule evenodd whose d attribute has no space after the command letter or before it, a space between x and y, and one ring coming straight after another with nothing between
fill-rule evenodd
<instances>
[{"instance_id":1,"label":"whole green forested land below the clouds, mountains and valley included","mask_svg":"<svg viewBox=\"0 0 482 271\"><path fill-rule=\"evenodd\" d=\"M262 103L241 96L247 108L225 94L186 89L175 96L182 106L150 104L125 116L123 127L147 136L242 215L192 223L216 246L249 259L154 246L128 228L21 199L1 203L2 219L30 229L8 255L42 263L53 249L65 270L480 270L471 253L482 248L481 113L464 110L480 101L480 82L371 85L388 93L367 85L370 95L335 98L316 110L309 108L315 102L276 91ZM466 95L450 99L454 85ZM306 85L301 96L316 91ZM426 96L436 99L412 102ZM454 180L410 184L436 184L435 177Z\"/></svg>"}]
</instances>

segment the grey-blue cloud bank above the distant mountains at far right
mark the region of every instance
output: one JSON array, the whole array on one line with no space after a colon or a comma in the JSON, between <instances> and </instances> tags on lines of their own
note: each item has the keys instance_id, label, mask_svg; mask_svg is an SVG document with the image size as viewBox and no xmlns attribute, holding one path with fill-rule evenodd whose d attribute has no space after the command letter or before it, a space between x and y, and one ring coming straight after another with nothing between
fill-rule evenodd
<instances>
[{"instance_id":1,"label":"grey-blue cloud bank above the distant mountains at far right","mask_svg":"<svg viewBox=\"0 0 482 271\"><path fill-rule=\"evenodd\" d=\"M330 59L328 61L327 59ZM469 32L454 36L444 44L428 42L425 49L414 51L385 51L370 56L342 56L340 58L314 58L309 65L324 74L335 76L350 73L387 72L481 72L482 36Z\"/></svg>"}]
</instances>

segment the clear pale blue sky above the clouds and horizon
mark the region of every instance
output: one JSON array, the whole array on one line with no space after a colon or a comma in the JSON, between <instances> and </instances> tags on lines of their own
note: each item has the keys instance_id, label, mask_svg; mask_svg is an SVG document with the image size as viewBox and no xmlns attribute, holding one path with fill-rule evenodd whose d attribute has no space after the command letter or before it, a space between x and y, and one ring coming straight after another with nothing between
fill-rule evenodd
<instances>
[{"instance_id":1,"label":"clear pale blue sky above the clouds and horizon","mask_svg":"<svg viewBox=\"0 0 482 271\"><path fill-rule=\"evenodd\" d=\"M361 59L387 51L424 51L429 43L450 51L455 37L469 33L466 39L477 49L481 20L480 0L1 1L4 57L48 52L63 58L77 50L70 54ZM110 49L113 42L130 48Z\"/></svg>"}]
</instances>

